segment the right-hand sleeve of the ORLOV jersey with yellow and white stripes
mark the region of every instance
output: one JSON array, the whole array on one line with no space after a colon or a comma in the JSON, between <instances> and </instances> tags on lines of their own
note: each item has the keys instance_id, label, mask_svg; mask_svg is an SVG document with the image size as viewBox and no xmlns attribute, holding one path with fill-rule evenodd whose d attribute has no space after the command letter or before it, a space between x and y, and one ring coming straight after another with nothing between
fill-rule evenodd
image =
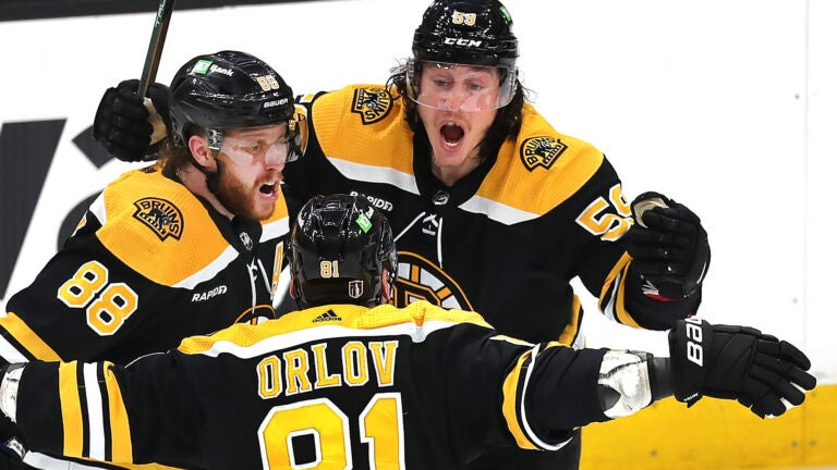
<instances>
[{"instance_id":1,"label":"right-hand sleeve of the ORLOV jersey with yellow and white stripes","mask_svg":"<svg viewBox=\"0 0 837 470\"><path fill-rule=\"evenodd\" d=\"M555 450L575 428L608 419L595 388L604 350L529 344L469 322L428 337L423 350L438 363L427 369L444 371L426 379L439 387L433 396L446 397L428 408L447 417L465 461L495 447Z\"/></svg>"}]
</instances>

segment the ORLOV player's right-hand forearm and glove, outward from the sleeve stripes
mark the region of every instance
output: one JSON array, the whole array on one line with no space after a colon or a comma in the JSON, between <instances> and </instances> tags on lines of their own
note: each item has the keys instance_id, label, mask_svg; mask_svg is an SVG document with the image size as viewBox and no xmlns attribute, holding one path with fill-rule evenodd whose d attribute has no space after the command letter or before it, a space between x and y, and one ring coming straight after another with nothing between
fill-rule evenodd
<instances>
[{"instance_id":1,"label":"ORLOV player's right-hand forearm and glove, outward from the sleeve stripes","mask_svg":"<svg viewBox=\"0 0 837 470\"><path fill-rule=\"evenodd\" d=\"M517 419L527 411L533 435L549 436L569 426L633 415L671 395L690 407L702 396L735 399L760 418L777 417L801 405L805 391L816 385L802 351L752 327L687 319L678 321L668 337L669 358L606 350L598 367L581 372L577 369L591 369L585 366L591 350L546 349L529 364L534 367L524 384L530 391L523 387L525 409ZM570 379L585 381L586 389Z\"/></svg>"}]
</instances>

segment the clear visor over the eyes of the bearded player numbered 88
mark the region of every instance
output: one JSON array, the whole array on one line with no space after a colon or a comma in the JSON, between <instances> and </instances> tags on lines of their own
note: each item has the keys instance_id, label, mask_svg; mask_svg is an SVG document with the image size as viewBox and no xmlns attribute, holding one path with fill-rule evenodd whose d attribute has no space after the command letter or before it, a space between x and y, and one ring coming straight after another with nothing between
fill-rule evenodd
<instances>
[{"instance_id":1,"label":"clear visor over the eyes of the bearded player numbered 88","mask_svg":"<svg viewBox=\"0 0 837 470\"><path fill-rule=\"evenodd\" d=\"M274 141L258 136L230 136L222 131L210 129L210 147L228 156L239 164L278 164L300 158L300 133L298 126L287 126L284 134Z\"/></svg>"}]
</instances>

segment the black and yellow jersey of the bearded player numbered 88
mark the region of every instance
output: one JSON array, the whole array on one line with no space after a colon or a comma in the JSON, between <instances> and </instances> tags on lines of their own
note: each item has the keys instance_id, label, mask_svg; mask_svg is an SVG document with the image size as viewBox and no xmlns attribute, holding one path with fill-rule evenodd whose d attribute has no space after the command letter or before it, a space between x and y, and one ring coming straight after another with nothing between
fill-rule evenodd
<instances>
[{"instance_id":1,"label":"black and yellow jersey of the bearded player numbered 88","mask_svg":"<svg viewBox=\"0 0 837 470\"><path fill-rule=\"evenodd\" d=\"M11 297L0 357L122 363L186 336L274 318L288 227L282 201L263 224L231 222L160 165L129 171Z\"/></svg>"}]
</instances>

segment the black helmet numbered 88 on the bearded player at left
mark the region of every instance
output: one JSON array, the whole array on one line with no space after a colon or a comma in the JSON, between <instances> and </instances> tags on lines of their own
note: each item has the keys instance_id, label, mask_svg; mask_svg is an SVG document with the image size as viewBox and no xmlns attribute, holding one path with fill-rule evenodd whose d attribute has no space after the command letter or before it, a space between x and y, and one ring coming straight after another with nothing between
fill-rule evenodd
<instances>
[{"instance_id":1,"label":"black helmet numbered 88 on the bearded player at left","mask_svg":"<svg viewBox=\"0 0 837 470\"><path fill-rule=\"evenodd\" d=\"M293 91L282 77L256 57L239 51L198 55L171 82L169 107L174 144L186 146L194 128L207 131L209 147L219 150L223 129L289 122ZM294 127L294 128L290 128ZM298 135L289 136L298 141ZM289 156L289 160L291 160Z\"/></svg>"}]
</instances>

